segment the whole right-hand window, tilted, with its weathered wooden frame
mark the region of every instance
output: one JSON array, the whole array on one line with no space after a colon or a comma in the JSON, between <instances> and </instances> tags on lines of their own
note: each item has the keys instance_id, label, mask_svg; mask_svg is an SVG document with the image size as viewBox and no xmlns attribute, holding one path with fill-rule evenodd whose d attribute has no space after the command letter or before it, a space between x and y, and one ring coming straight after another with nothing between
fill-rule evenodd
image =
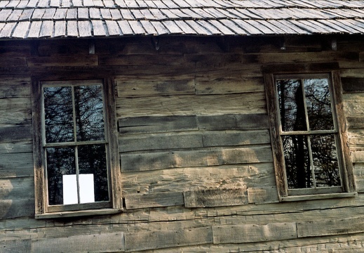
<instances>
[{"instance_id":1,"label":"whole right-hand window, tilted, with its weathered wooden frame","mask_svg":"<svg viewBox=\"0 0 364 253\"><path fill-rule=\"evenodd\" d=\"M281 200L355 195L338 74L265 78Z\"/></svg>"}]
</instances>

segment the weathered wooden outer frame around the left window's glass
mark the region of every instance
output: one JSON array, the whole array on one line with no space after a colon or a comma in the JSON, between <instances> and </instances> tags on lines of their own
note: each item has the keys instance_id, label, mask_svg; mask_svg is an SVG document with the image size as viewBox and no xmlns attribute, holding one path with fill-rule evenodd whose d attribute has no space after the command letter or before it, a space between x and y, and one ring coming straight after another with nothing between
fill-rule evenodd
<instances>
[{"instance_id":1,"label":"weathered wooden outer frame around the left window's glass","mask_svg":"<svg viewBox=\"0 0 364 253\"><path fill-rule=\"evenodd\" d=\"M46 76L46 75L44 75ZM85 203L75 205L70 210L67 205L48 206L47 183L45 176L45 153L43 141L43 106L42 82L64 81L70 84L97 82L102 84L105 113L105 139L107 140L107 164L109 173L109 203ZM59 218L67 216L88 216L114 214L123 211L121 196L121 168L119 162L119 143L116 121L115 88L112 78L95 79L62 79L60 77L32 78L32 126L33 126L33 160L34 160L34 193L35 218ZM72 207L72 209L74 209Z\"/></svg>"}]
</instances>

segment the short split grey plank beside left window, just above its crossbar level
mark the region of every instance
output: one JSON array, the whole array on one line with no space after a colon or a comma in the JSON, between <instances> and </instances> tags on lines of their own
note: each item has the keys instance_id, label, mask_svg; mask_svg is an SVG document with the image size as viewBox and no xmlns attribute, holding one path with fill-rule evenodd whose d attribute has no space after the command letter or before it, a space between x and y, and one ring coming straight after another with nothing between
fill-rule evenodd
<instances>
[{"instance_id":1,"label":"short split grey plank beside left window, just above its crossbar level","mask_svg":"<svg viewBox=\"0 0 364 253\"><path fill-rule=\"evenodd\" d=\"M147 134L198 130L196 115L126 117L119 119L120 134Z\"/></svg>"}]
</instances>

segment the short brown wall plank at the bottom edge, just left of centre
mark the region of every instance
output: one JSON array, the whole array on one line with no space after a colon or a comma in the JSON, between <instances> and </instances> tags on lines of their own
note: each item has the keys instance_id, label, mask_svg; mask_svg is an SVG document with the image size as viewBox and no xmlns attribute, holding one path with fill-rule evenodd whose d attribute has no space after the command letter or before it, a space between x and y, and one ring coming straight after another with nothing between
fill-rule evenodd
<instances>
[{"instance_id":1,"label":"short brown wall plank at the bottom edge, just left of centre","mask_svg":"<svg viewBox=\"0 0 364 253\"><path fill-rule=\"evenodd\" d=\"M169 231L140 231L138 233L125 234L126 252L188 245L206 245L212 242L213 233L211 227L180 228Z\"/></svg>"}]
</instances>

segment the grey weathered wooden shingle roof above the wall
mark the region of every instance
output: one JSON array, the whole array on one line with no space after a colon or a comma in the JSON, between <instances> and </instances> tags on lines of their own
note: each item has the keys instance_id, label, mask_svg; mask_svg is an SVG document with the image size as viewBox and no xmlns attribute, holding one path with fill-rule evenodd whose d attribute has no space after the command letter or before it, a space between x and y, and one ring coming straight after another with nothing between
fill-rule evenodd
<instances>
[{"instance_id":1,"label":"grey weathered wooden shingle roof above the wall","mask_svg":"<svg viewBox=\"0 0 364 253\"><path fill-rule=\"evenodd\" d=\"M362 33L364 1L0 0L0 39Z\"/></svg>"}]
</instances>

